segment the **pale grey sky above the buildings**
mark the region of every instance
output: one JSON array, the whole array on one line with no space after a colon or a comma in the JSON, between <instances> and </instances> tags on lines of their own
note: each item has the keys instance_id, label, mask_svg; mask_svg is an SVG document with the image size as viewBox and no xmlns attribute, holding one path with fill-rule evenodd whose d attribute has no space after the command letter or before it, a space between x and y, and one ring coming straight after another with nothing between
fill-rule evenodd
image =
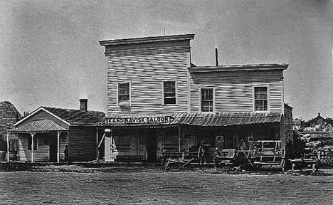
<instances>
[{"instance_id":1,"label":"pale grey sky above the buildings","mask_svg":"<svg viewBox=\"0 0 333 205\"><path fill-rule=\"evenodd\" d=\"M288 63L293 116L333 117L333 4L324 0L0 0L0 101L106 110L98 41L194 33L191 59L214 65Z\"/></svg>"}]
</instances>

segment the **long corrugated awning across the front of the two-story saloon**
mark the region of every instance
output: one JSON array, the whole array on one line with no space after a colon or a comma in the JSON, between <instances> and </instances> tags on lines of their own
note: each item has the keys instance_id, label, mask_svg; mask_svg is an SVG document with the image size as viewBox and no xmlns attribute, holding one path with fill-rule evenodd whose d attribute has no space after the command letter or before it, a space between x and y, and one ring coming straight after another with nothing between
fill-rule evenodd
<instances>
[{"instance_id":1,"label":"long corrugated awning across the front of the two-story saloon","mask_svg":"<svg viewBox=\"0 0 333 205\"><path fill-rule=\"evenodd\" d=\"M221 112L177 113L165 115L109 115L95 124L96 127L142 127L192 125L201 127L226 127L280 122L280 112Z\"/></svg>"}]
</instances>

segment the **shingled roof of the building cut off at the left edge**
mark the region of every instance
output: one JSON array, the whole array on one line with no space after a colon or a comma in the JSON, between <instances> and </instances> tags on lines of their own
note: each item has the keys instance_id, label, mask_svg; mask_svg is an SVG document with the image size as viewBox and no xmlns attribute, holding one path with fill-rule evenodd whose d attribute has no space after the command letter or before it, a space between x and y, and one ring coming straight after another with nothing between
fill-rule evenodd
<instances>
[{"instance_id":1,"label":"shingled roof of the building cut off at the left edge","mask_svg":"<svg viewBox=\"0 0 333 205\"><path fill-rule=\"evenodd\" d=\"M21 114L9 101L0 102L0 135L14 127L15 122L21 119Z\"/></svg>"}]
</instances>

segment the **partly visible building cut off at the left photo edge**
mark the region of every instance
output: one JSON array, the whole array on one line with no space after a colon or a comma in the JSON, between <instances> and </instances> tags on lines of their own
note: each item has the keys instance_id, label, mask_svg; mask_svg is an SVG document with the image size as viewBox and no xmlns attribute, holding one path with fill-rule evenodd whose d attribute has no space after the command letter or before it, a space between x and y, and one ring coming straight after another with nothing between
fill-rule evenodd
<instances>
[{"instance_id":1,"label":"partly visible building cut off at the left photo edge","mask_svg":"<svg viewBox=\"0 0 333 205\"><path fill-rule=\"evenodd\" d=\"M0 102L0 151L7 151L7 135L9 135L9 151L17 151L17 137L15 135L11 135L8 130L13 128L14 124L20 119L20 112L18 112L16 107L11 102ZM0 156L0 158L4 158L4 156Z\"/></svg>"}]
</instances>

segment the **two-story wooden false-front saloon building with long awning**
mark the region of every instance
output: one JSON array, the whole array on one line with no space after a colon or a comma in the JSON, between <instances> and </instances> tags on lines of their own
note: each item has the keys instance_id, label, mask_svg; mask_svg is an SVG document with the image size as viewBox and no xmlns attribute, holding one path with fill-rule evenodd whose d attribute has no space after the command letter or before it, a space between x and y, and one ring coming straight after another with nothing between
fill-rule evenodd
<instances>
[{"instance_id":1,"label":"two-story wooden false-front saloon building with long awning","mask_svg":"<svg viewBox=\"0 0 333 205\"><path fill-rule=\"evenodd\" d=\"M288 65L196 66L192 39L100 41L107 57L107 117L95 126L105 161L156 162L166 150L235 148L248 137L282 140L283 146L291 140L285 124L292 125L292 108L283 97Z\"/></svg>"}]
</instances>

